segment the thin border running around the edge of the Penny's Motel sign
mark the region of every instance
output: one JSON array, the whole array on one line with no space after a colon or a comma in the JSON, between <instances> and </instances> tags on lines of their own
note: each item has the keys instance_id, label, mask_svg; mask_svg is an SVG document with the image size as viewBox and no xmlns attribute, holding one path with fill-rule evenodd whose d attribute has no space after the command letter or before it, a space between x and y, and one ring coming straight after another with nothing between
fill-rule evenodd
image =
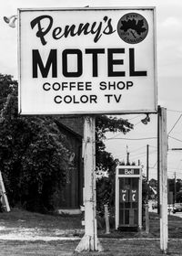
<instances>
[{"instance_id":1,"label":"thin border running around the edge of the Penny's Motel sign","mask_svg":"<svg viewBox=\"0 0 182 256\"><path fill-rule=\"evenodd\" d=\"M36 11L89 11L89 10L152 10L153 11L153 35L154 35L154 97L155 97L155 103L154 103L154 109L153 110L126 110L126 111L97 111L97 112L60 112L60 113L54 113L54 112L22 112L22 102L21 102L21 12L36 12ZM18 57L18 112L21 115L86 115L86 114L128 114L128 113L157 113L157 22L156 22L156 6L128 6L128 7L118 7L118 6L110 6L110 7L54 7L54 8L18 8L17 9L17 34L18 34L18 48L17 48L17 57Z\"/></svg>"}]
</instances>

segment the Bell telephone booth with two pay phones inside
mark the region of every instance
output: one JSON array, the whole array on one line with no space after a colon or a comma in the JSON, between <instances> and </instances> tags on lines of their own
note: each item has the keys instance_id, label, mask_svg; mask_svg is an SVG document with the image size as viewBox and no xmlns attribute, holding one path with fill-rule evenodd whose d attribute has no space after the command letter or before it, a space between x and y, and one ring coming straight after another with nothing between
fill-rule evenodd
<instances>
[{"instance_id":1,"label":"Bell telephone booth with two pay phones inside","mask_svg":"<svg viewBox=\"0 0 182 256\"><path fill-rule=\"evenodd\" d=\"M116 229L142 228L141 166L116 167Z\"/></svg>"}]
</instances>

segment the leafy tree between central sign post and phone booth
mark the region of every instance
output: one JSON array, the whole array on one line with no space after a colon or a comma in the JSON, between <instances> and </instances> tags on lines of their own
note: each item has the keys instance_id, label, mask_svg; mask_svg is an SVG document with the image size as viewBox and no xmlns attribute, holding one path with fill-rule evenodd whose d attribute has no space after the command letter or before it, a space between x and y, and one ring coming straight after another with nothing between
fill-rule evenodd
<instances>
[{"instance_id":1,"label":"leafy tree between central sign post and phone booth","mask_svg":"<svg viewBox=\"0 0 182 256\"><path fill-rule=\"evenodd\" d=\"M97 209L104 212L104 205L110 208L115 205L115 174L118 159L114 159L111 153L106 152L106 132L128 133L133 129L133 124L122 118L99 115L96 117L96 173L99 176L96 181ZM100 174L105 174L104 176Z\"/></svg>"}]
</instances>

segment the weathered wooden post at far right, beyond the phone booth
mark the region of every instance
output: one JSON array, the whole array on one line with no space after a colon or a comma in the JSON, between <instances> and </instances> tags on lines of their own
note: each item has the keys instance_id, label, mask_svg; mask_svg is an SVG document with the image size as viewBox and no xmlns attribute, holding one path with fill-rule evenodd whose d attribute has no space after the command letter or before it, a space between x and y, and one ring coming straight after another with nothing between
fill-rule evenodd
<instances>
[{"instance_id":1,"label":"weathered wooden post at far right, beyond the phone booth","mask_svg":"<svg viewBox=\"0 0 182 256\"><path fill-rule=\"evenodd\" d=\"M158 108L159 184L160 184L160 249L167 253L167 109Z\"/></svg>"}]
</instances>

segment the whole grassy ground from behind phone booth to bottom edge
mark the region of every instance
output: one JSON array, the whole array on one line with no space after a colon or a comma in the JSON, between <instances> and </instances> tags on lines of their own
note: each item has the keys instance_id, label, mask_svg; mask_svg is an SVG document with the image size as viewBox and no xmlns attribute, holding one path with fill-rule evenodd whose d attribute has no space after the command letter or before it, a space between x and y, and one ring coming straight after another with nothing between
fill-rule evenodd
<instances>
[{"instance_id":1,"label":"whole grassy ground from behind phone booth to bottom edge","mask_svg":"<svg viewBox=\"0 0 182 256\"><path fill-rule=\"evenodd\" d=\"M170 216L168 255L182 256L181 219ZM101 223L102 224L102 223ZM102 225L101 225L102 226ZM6 256L162 256L159 219L150 214L150 232L122 232L98 229L102 252L74 252L84 235L80 216L57 216L13 209L0 213L0 255Z\"/></svg>"}]
</instances>

